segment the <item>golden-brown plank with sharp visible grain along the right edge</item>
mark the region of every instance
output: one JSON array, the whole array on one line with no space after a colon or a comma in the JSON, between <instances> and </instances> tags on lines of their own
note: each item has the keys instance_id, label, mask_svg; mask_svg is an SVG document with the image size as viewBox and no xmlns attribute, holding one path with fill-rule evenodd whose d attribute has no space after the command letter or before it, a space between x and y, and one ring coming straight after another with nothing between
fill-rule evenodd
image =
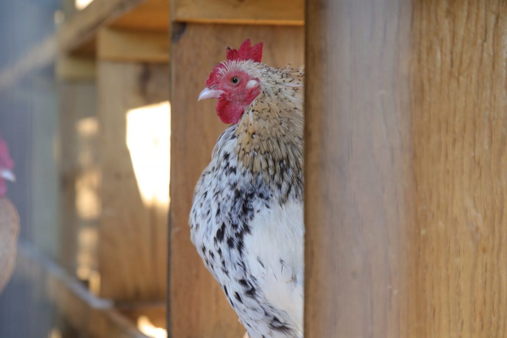
<instances>
[{"instance_id":1,"label":"golden-brown plank with sharp visible grain along the right edge","mask_svg":"<svg viewBox=\"0 0 507 338\"><path fill-rule=\"evenodd\" d=\"M507 4L414 4L417 333L506 336Z\"/></svg>"}]
</instances>

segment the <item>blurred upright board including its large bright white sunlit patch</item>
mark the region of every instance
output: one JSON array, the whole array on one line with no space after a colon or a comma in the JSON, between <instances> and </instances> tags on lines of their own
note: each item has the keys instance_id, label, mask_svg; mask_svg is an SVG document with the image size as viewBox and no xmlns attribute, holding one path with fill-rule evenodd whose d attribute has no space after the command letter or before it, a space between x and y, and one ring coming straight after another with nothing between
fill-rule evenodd
<instances>
[{"instance_id":1,"label":"blurred upright board including its large bright white sunlit patch","mask_svg":"<svg viewBox=\"0 0 507 338\"><path fill-rule=\"evenodd\" d=\"M167 64L98 61L99 294L117 301L166 295L169 182L167 172L158 173L169 149L156 154L153 148L169 138L168 70ZM166 133L153 139L157 125Z\"/></svg>"}]
</instances>

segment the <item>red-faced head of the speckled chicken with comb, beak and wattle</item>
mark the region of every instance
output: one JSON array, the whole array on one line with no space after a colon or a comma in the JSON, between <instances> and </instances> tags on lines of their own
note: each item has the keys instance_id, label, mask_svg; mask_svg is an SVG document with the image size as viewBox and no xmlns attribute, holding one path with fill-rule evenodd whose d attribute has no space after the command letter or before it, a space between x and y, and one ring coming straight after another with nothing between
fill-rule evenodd
<instances>
[{"instance_id":1,"label":"red-faced head of the speckled chicken with comb, beak and wattle","mask_svg":"<svg viewBox=\"0 0 507 338\"><path fill-rule=\"evenodd\" d=\"M256 65L262 59L263 43L251 46L246 39L239 50L227 48L227 60L216 65L199 100L215 98L216 114L222 122L238 123L245 108L261 93Z\"/></svg>"}]
</instances>

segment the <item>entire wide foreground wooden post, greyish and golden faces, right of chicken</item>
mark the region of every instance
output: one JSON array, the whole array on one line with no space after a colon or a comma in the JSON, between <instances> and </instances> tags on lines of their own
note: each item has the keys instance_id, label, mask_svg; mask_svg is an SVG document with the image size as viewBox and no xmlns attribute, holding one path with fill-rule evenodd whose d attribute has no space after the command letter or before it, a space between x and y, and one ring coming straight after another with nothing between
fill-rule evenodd
<instances>
[{"instance_id":1,"label":"entire wide foreground wooden post, greyish and golden faces, right of chicken","mask_svg":"<svg viewBox=\"0 0 507 338\"><path fill-rule=\"evenodd\" d=\"M503 336L507 5L306 15L305 338Z\"/></svg>"}]
</instances>

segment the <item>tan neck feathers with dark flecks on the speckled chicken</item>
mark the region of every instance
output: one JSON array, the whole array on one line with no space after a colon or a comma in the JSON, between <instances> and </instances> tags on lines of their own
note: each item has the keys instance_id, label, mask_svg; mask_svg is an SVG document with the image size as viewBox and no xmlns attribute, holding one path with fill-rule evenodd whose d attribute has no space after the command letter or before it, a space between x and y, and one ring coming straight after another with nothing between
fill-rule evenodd
<instances>
[{"instance_id":1,"label":"tan neck feathers with dark flecks on the speckled chicken","mask_svg":"<svg viewBox=\"0 0 507 338\"><path fill-rule=\"evenodd\" d=\"M279 193L279 202L300 199L304 72L258 65L262 91L238 123L238 160Z\"/></svg>"}]
</instances>

